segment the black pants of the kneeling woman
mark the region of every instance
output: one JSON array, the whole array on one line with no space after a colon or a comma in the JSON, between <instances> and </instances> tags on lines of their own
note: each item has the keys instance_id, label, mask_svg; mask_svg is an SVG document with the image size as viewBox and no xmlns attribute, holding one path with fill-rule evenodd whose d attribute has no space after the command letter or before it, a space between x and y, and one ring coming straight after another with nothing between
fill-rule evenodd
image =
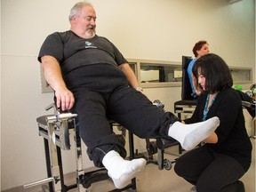
<instances>
[{"instance_id":1,"label":"black pants of the kneeling woman","mask_svg":"<svg viewBox=\"0 0 256 192\"><path fill-rule=\"evenodd\" d=\"M245 173L243 166L233 157L213 153L205 146L180 156L174 171L195 185L197 192L244 192L238 181Z\"/></svg>"}]
</instances>

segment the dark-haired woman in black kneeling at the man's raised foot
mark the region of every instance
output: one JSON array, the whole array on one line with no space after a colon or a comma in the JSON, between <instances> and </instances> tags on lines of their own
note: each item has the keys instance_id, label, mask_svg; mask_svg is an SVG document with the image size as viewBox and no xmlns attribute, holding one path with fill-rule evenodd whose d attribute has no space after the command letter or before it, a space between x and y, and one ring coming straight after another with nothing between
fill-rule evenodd
<instances>
[{"instance_id":1,"label":"dark-haired woman in black kneeling at the man's raised foot","mask_svg":"<svg viewBox=\"0 0 256 192\"><path fill-rule=\"evenodd\" d=\"M220 126L204 144L176 161L174 171L197 192L244 192L239 180L252 161L252 143L244 125L240 96L232 88L228 65L220 56L208 53L196 60L193 74L203 92L193 115L184 124L220 118Z\"/></svg>"}]
</instances>

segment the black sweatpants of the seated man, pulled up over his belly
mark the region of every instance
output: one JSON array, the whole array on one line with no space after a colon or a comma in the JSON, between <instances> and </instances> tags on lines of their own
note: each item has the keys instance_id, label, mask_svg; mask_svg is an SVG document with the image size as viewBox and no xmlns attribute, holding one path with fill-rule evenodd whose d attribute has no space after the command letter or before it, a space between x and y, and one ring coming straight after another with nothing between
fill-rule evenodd
<instances>
[{"instance_id":1,"label":"black sweatpants of the seated man, pulled up over his belly","mask_svg":"<svg viewBox=\"0 0 256 192\"><path fill-rule=\"evenodd\" d=\"M83 72L83 84L76 82L79 88L72 90L76 99L73 112L78 114L80 136L88 156L99 167L110 150L126 156L124 147L111 132L108 119L144 139L168 137L170 124L178 121L172 113L164 113L141 92L129 87L123 72L107 67L87 68ZM81 78L78 76L78 79Z\"/></svg>"}]
</instances>

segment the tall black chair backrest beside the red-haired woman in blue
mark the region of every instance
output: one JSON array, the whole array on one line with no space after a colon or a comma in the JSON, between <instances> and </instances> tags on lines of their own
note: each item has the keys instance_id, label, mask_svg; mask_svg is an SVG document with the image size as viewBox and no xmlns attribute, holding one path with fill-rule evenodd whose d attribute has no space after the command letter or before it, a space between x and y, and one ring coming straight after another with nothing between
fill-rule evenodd
<instances>
[{"instance_id":1,"label":"tall black chair backrest beside the red-haired woman in blue","mask_svg":"<svg viewBox=\"0 0 256 192\"><path fill-rule=\"evenodd\" d=\"M193 60L192 57L182 56L181 100L194 100L187 72L188 64L191 60Z\"/></svg>"}]
</instances>

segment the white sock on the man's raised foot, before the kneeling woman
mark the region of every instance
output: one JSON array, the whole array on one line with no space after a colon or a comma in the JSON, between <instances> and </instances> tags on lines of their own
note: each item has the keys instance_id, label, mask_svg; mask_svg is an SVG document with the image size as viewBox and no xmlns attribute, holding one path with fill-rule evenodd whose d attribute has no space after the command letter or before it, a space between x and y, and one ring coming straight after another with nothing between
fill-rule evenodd
<instances>
[{"instance_id":1,"label":"white sock on the man's raised foot, before the kneeling woman","mask_svg":"<svg viewBox=\"0 0 256 192\"><path fill-rule=\"evenodd\" d=\"M220 120L214 116L207 121L196 124L181 124L175 122L169 128L168 135L180 142L185 150L191 150L209 137L220 125Z\"/></svg>"}]
</instances>

